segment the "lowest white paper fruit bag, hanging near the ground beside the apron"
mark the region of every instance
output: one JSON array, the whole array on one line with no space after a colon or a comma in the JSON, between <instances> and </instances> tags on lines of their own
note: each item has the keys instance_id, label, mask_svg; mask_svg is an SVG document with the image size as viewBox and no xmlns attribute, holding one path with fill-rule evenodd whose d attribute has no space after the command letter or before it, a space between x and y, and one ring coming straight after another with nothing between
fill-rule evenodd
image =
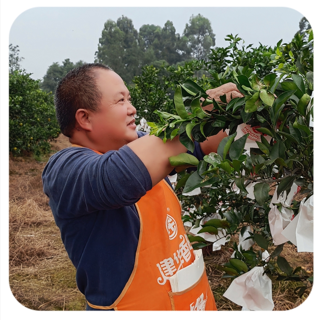
<instances>
[{"instance_id":1,"label":"lowest white paper fruit bag, hanging near the ground beside the apron","mask_svg":"<svg viewBox=\"0 0 320 320\"><path fill-rule=\"evenodd\" d=\"M232 281L224 297L244 307L243 310L272 310L272 282L263 267L254 267Z\"/></svg>"}]
</instances>

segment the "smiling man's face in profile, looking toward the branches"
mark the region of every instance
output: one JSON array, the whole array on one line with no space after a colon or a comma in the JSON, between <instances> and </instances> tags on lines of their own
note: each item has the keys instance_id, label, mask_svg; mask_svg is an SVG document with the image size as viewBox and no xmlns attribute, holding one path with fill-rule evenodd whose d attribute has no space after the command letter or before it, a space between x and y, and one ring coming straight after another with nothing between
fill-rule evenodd
<instances>
[{"instance_id":1,"label":"smiling man's face in profile, looking toward the branches","mask_svg":"<svg viewBox=\"0 0 320 320\"><path fill-rule=\"evenodd\" d=\"M118 150L138 138L134 124L137 110L130 92L119 75L111 70L97 70L97 85L102 93L99 111L92 114L91 139L108 150Z\"/></svg>"}]
</instances>

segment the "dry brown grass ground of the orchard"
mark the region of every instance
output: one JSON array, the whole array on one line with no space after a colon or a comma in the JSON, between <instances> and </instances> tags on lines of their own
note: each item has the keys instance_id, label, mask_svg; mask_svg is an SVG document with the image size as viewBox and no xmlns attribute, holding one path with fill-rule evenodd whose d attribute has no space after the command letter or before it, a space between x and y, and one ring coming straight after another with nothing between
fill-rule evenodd
<instances>
[{"instance_id":1,"label":"dry brown grass ground of the orchard","mask_svg":"<svg viewBox=\"0 0 320 320\"><path fill-rule=\"evenodd\" d=\"M68 147L60 136L54 149ZM76 286L76 270L71 264L54 223L48 198L42 191L41 173L45 162L32 158L10 159L10 286L15 298L24 306L36 310L84 310L85 298ZM206 271L218 310L241 310L222 295L230 279L221 279L217 265L227 262L231 242L220 251L204 257ZM285 245L284 256L293 265L301 265L306 274L313 269L313 255L298 253ZM299 283L273 284L275 310L292 309L301 299L293 293Z\"/></svg>"}]
</instances>

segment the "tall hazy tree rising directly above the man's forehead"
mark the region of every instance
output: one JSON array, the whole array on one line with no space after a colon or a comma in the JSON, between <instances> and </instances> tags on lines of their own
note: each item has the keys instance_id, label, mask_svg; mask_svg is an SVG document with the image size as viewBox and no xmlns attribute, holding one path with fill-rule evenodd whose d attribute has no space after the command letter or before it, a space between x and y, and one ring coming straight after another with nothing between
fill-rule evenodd
<instances>
[{"instance_id":1,"label":"tall hazy tree rising directly above the man's forehead","mask_svg":"<svg viewBox=\"0 0 320 320\"><path fill-rule=\"evenodd\" d=\"M140 73L141 52L138 31L131 19L122 16L104 24L95 61L107 64L129 83Z\"/></svg>"}]
</instances>

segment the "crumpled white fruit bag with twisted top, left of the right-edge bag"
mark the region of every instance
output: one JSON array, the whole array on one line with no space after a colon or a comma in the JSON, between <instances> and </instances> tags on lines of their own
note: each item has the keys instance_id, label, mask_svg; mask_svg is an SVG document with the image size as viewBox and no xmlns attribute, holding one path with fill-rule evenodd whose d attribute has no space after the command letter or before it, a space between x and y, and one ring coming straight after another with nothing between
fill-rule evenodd
<instances>
[{"instance_id":1,"label":"crumpled white fruit bag with twisted top, left of the right-edge bag","mask_svg":"<svg viewBox=\"0 0 320 320\"><path fill-rule=\"evenodd\" d=\"M271 199L269 205L271 210L268 215L270 232L275 245L283 244L288 241L288 239L282 234L282 231L289 225L294 217L293 211L290 209L290 205L293 197L300 189L295 183L293 183L289 193L284 191L283 195L280 194L279 198L277 198L277 188L278 186L276 186L275 193ZM281 212L276 205L279 203L282 205Z\"/></svg>"}]
</instances>

